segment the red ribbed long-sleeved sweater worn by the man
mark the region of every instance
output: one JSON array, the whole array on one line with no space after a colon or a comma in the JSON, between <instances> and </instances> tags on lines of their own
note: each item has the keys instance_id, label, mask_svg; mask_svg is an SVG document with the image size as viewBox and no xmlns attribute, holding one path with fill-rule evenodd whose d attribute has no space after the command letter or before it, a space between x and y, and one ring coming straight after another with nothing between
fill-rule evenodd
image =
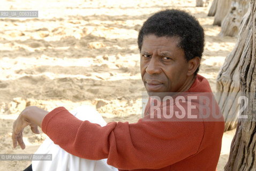
<instances>
[{"instance_id":1,"label":"red ribbed long-sleeved sweater worn by the man","mask_svg":"<svg viewBox=\"0 0 256 171\"><path fill-rule=\"evenodd\" d=\"M208 81L198 74L187 92L212 90ZM199 102L194 100L193 104L197 107L192 114L199 115ZM182 105L186 108L187 103ZM148 108L149 105L145 113L150 112ZM219 107L215 112L219 112ZM210 112L208 118L212 115ZM146 115L137 123L110 122L101 127L78 120L64 107L58 107L44 117L42 130L74 156L91 160L108 158L108 164L119 170L211 171L216 170L219 160L224 120L221 117L214 121L212 118L149 121Z\"/></svg>"}]
</instances>

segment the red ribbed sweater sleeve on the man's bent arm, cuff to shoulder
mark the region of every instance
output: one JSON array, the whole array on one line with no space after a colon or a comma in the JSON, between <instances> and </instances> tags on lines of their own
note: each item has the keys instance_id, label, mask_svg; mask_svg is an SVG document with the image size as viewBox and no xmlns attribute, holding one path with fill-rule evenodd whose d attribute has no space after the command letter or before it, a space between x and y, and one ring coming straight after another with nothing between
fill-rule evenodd
<instances>
[{"instance_id":1,"label":"red ribbed sweater sleeve on the man's bent arm, cuff to shoulder","mask_svg":"<svg viewBox=\"0 0 256 171\"><path fill-rule=\"evenodd\" d=\"M145 116L147 117L147 116ZM203 122L110 122L101 127L78 120L64 107L43 119L42 130L55 144L80 158L119 169L157 169L193 156L204 137Z\"/></svg>"}]
</instances>

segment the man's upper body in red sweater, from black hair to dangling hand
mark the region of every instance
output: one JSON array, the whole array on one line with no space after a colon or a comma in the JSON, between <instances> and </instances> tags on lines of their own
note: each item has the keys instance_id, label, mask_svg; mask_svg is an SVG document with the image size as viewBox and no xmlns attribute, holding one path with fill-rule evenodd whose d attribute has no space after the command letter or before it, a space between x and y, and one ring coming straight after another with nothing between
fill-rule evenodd
<instances>
[{"instance_id":1,"label":"man's upper body in red sweater, from black hair to dangling hand","mask_svg":"<svg viewBox=\"0 0 256 171\"><path fill-rule=\"evenodd\" d=\"M208 81L197 74L204 30L188 13L165 10L145 21L138 46L150 96L144 118L102 127L64 107L47 112L31 106L14 122L13 146L18 141L24 149L22 129L30 125L37 133L40 126L68 153L107 159L119 170L215 170L224 122Z\"/></svg>"}]
</instances>

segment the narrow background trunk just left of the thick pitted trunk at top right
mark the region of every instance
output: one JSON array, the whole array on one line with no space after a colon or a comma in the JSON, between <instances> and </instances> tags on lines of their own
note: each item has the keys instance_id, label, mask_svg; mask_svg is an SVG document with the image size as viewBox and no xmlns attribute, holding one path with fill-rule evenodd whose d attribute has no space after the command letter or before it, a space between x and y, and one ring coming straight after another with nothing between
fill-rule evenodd
<instances>
[{"instance_id":1,"label":"narrow background trunk just left of the thick pitted trunk at top right","mask_svg":"<svg viewBox=\"0 0 256 171\"><path fill-rule=\"evenodd\" d=\"M217 10L214 15L213 25L221 26L221 22L224 17L227 15L231 0L219 0L217 5Z\"/></svg>"}]
</instances>

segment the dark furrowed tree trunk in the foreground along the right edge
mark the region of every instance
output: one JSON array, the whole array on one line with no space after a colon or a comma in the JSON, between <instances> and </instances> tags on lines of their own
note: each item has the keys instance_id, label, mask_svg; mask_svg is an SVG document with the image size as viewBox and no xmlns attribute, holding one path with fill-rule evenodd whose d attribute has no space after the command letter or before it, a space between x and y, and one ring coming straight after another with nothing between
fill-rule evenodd
<instances>
[{"instance_id":1,"label":"dark furrowed tree trunk in the foreground along the right edge","mask_svg":"<svg viewBox=\"0 0 256 171\"><path fill-rule=\"evenodd\" d=\"M248 105L239 119L233 138L230 155L225 170L256 170L256 4L251 0L250 30L246 38L245 49L240 61L240 88L248 98ZM243 107L241 104L240 107Z\"/></svg>"}]
</instances>

